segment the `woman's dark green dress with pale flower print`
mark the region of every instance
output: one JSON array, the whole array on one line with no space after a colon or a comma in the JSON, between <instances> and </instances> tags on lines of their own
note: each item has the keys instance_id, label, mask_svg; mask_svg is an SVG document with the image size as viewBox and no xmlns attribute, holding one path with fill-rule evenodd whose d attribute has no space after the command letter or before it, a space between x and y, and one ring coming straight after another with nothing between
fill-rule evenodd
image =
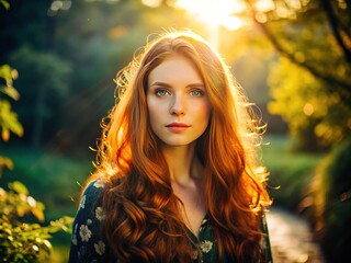
<instances>
[{"instance_id":1,"label":"woman's dark green dress with pale flower print","mask_svg":"<svg viewBox=\"0 0 351 263\"><path fill-rule=\"evenodd\" d=\"M101 235L100 226L104 217L101 207L102 181L93 181L86 188L75 221L70 245L69 263L116 263L116 259L109 248L105 238ZM272 262L271 248L268 236L267 222L263 218L262 231L265 237L262 239L264 262ZM218 248L214 238L212 226L207 217L204 218L200 228L199 238L191 231L192 241L197 244L194 249L194 262L218 262ZM222 262L233 262L225 259Z\"/></svg>"}]
</instances>

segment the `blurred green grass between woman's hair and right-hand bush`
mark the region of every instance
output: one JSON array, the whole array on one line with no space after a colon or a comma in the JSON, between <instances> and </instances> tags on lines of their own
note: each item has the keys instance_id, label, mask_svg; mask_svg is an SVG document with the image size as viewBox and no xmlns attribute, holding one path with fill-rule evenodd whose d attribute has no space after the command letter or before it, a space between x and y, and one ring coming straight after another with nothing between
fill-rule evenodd
<instances>
[{"instance_id":1,"label":"blurred green grass between woman's hair and right-hand bush","mask_svg":"<svg viewBox=\"0 0 351 263\"><path fill-rule=\"evenodd\" d=\"M292 211L303 208L324 155L295 152L286 136L265 136L262 146L263 164L270 171L270 194L273 205Z\"/></svg>"}]
</instances>

